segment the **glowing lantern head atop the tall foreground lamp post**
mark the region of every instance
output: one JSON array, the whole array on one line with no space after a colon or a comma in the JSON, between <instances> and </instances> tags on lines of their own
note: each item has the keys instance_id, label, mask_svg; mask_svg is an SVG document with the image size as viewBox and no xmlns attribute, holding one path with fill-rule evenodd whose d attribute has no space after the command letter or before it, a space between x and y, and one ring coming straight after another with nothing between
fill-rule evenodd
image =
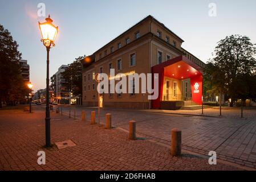
<instances>
[{"instance_id":1,"label":"glowing lantern head atop the tall foreground lamp post","mask_svg":"<svg viewBox=\"0 0 256 182\"><path fill-rule=\"evenodd\" d=\"M55 46L54 40L56 38L56 35L58 34L58 27L55 27L54 24L52 24L52 19L50 18L50 15L48 16L48 18L46 18L46 22L38 23L42 35L41 41L43 42L43 45L46 47Z\"/></svg>"}]
</instances>

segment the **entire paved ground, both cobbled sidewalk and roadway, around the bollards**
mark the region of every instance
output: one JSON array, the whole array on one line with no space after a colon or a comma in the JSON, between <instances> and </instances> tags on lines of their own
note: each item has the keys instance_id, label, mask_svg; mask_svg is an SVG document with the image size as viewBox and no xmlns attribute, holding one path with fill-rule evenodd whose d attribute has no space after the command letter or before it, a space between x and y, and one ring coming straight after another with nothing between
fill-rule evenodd
<instances>
[{"instance_id":1,"label":"entire paved ground, both cobbled sidewalk and roadway, around the bollards","mask_svg":"<svg viewBox=\"0 0 256 182\"><path fill-rule=\"evenodd\" d=\"M56 109L56 106L55 106ZM71 109L72 118L68 118ZM76 110L76 111L75 111ZM87 121L81 121L86 110ZM256 168L256 120L101 110L112 114L111 130L90 125L95 108L63 107L51 113L51 141L76 144L58 150L44 148L44 106L33 113L20 107L0 110L1 170L242 170ZM75 111L75 112L74 112ZM76 113L76 119L74 118ZM137 140L128 139L128 121L135 120ZM182 130L183 155L170 155L170 130ZM208 152L217 152L217 165L209 165ZM38 151L46 164L37 164Z\"/></svg>"}]
</instances>

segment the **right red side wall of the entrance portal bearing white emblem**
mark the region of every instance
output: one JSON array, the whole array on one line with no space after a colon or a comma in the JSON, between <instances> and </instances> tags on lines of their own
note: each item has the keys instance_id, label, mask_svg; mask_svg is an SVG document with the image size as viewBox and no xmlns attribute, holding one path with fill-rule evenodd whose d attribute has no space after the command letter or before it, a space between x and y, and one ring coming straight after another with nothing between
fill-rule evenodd
<instances>
[{"instance_id":1,"label":"right red side wall of the entrance portal bearing white emblem","mask_svg":"<svg viewBox=\"0 0 256 182\"><path fill-rule=\"evenodd\" d=\"M202 104L202 75L190 77L190 86L192 92L192 101L196 104Z\"/></svg>"}]
</instances>

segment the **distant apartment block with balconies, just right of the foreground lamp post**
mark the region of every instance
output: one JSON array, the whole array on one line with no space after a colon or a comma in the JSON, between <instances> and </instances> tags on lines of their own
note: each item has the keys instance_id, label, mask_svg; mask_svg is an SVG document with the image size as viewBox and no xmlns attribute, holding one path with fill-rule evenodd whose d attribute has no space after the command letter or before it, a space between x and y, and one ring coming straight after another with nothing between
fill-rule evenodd
<instances>
[{"instance_id":1,"label":"distant apartment block with balconies, just right of the foreground lamp post","mask_svg":"<svg viewBox=\"0 0 256 182\"><path fill-rule=\"evenodd\" d=\"M70 90L65 86L66 80L62 73L68 68L68 65L61 65L58 72L51 76L51 97L58 104L70 104Z\"/></svg>"}]
</instances>

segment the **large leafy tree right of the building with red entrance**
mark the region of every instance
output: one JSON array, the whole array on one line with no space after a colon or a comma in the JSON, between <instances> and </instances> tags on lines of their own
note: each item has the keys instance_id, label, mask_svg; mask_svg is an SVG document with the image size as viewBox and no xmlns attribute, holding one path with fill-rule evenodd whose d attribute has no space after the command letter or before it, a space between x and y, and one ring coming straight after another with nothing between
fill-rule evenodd
<instances>
[{"instance_id":1,"label":"large leafy tree right of the building with red entrance","mask_svg":"<svg viewBox=\"0 0 256 182\"><path fill-rule=\"evenodd\" d=\"M210 94L227 94L233 100L255 98L255 44L247 36L231 35L218 42L215 57L206 65L204 84Z\"/></svg>"}]
</instances>

